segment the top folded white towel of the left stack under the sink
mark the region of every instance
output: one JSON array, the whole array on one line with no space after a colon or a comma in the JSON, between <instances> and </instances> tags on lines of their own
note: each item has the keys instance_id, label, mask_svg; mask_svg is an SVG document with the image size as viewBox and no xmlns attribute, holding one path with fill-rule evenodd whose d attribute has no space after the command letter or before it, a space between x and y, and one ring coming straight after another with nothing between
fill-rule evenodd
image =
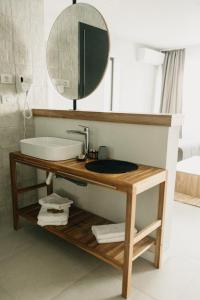
<instances>
[{"instance_id":1,"label":"top folded white towel of the left stack under the sink","mask_svg":"<svg viewBox=\"0 0 200 300\"><path fill-rule=\"evenodd\" d=\"M39 203L44 207L61 210L69 207L73 203L73 201L69 200L68 198L63 198L56 193L53 193L49 196L41 198L39 200Z\"/></svg>"}]
</instances>

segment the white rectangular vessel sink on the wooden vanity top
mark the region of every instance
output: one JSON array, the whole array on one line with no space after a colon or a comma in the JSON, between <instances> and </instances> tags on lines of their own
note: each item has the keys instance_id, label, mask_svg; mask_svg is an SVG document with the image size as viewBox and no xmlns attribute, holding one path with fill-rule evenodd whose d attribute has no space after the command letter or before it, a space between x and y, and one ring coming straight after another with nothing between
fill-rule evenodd
<instances>
[{"instance_id":1,"label":"white rectangular vessel sink on the wooden vanity top","mask_svg":"<svg viewBox=\"0 0 200 300\"><path fill-rule=\"evenodd\" d=\"M67 160L82 153L83 143L56 137L37 137L20 141L21 153L45 160Z\"/></svg>"}]
</instances>

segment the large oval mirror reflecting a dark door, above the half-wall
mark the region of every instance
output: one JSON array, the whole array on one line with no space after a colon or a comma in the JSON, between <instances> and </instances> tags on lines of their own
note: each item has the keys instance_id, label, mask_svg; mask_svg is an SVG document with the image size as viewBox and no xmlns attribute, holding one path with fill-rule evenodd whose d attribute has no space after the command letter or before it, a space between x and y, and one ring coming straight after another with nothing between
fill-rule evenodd
<instances>
[{"instance_id":1,"label":"large oval mirror reflecting a dark door, above the half-wall","mask_svg":"<svg viewBox=\"0 0 200 300\"><path fill-rule=\"evenodd\" d=\"M108 28L96 8L78 3L58 16L47 43L47 68L62 96L90 95L103 78L108 55Z\"/></svg>"}]
</instances>

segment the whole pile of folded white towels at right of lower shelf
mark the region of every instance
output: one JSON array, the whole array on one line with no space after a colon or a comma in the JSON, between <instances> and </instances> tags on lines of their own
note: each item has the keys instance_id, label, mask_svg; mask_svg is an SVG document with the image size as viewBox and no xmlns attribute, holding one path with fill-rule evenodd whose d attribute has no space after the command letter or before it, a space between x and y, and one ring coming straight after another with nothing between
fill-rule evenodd
<instances>
[{"instance_id":1,"label":"whole pile of folded white towels at right of lower shelf","mask_svg":"<svg viewBox=\"0 0 200 300\"><path fill-rule=\"evenodd\" d=\"M92 232L99 244L122 242L125 240L125 223L92 226Z\"/></svg>"}]
</instances>

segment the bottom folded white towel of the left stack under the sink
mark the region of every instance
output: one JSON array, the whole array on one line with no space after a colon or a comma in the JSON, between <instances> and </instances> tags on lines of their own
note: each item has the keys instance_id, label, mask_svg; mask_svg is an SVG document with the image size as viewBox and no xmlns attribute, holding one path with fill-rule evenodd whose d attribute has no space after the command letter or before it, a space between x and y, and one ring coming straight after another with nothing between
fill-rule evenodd
<instances>
[{"instance_id":1,"label":"bottom folded white towel of the left stack under the sink","mask_svg":"<svg viewBox=\"0 0 200 300\"><path fill-rule=\"evenodd\" d=\"M48 208L42 206L38 215L38 221L42 222L60 222L66 221L69 216L69 208L63 209L62 213L49 212Z\"/></svg>"}]
</instances>

